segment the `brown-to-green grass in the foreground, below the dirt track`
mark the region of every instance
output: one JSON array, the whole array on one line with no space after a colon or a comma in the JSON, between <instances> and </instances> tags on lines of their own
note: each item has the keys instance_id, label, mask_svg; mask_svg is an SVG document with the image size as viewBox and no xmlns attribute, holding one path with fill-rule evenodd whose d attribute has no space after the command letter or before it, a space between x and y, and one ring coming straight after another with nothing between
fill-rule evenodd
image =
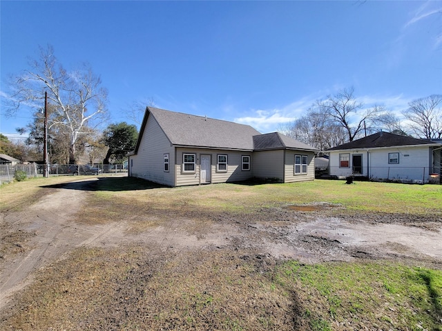
<instances>
[{"instance_id":1,"label":"brown-to-green grass in the foreground, below the dirt track","mask_svg":"<svg viewBox=\"0 0 442 331\"><path fill-rule=\"evenodd\" d=\"M442 272L248 251L79 248L23 292L15 330L442 330Z\"/></svg>"}]
</instances>

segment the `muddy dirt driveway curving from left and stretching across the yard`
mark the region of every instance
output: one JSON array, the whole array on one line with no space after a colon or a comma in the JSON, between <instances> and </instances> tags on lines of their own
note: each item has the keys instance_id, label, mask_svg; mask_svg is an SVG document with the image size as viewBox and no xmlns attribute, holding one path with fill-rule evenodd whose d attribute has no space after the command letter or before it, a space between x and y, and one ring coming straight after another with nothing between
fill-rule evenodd
<instances>
[{"instance_id":1,"label":"muddy dirt driveway curving from left and stretching across the yard","mask_svg":"<svg viewBox=\"0 0 442 331\"><path fill-rule=\"evenodd\" d=\"M386 215L369 219L324 217L318 210L329 206L316 205L311 210L273 208L250 216L217 214L204 230L195 230L192 217L170 217L148 230L132 232L124 220L103 225L73 221L92 194L83 190L90 180L48 188L48 194L26 210L1 213L1 240L15 252L6 250L0 257L0 310L12 294L32 282L35 270L65 259L80 246L148 243L159 252L247 248L256 254L305 263L387 258L442 268L440 220L416 220L406 215L401 219Z\"/></svg>"}]
</instances>

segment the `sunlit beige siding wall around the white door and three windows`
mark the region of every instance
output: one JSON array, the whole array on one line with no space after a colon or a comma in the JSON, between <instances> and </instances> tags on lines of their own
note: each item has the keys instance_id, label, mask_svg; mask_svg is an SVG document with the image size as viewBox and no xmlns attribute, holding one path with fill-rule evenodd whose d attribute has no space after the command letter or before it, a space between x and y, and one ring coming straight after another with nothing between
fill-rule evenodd
<instances>
[{"instance_id":1,"label":"sunlit beige siding wall around the white door and three windows","mask_svg":"<svg viewBox=\"0 0 442 331\"><path fill-rule=\"evenodd\" d=\"M196 164L195 172L182 171L182 155L195 154ZM211 156L211 183L225 183L229 181L244 181L253 177L252 170L241 170L241 156L249 155L251 157L251 168L253 168L252 152L240 152L231 150L211 150L197 148L177 148L175 152L175 170L177 174L177 186L198 185L200 183L200 156ZM218 154L227 155L227 171L217 171Z\"/></svg>"}]
</instances>

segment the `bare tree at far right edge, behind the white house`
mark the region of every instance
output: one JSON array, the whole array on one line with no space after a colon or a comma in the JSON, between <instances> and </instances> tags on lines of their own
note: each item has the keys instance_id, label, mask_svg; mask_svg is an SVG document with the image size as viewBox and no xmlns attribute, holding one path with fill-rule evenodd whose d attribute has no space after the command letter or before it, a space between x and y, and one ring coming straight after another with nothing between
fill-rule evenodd
<instances>
[{"instance_id":1,"label":"bare tree at far right edge, behind the white house","mask_svg":"<svg viewBox=\"0 0 442 331\"><path fill-rule=\"evenodd\" d=\"M410 129L417 137L423 139L442 138L442 94L414 100L408 103L409 108L403 112L410 122Z\"/></svg>"}]
</instances>

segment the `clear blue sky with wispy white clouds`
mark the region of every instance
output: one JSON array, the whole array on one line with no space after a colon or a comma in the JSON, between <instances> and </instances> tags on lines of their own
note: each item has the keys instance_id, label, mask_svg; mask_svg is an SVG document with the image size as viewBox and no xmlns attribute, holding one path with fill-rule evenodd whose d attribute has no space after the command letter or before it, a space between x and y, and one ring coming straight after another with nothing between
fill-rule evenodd
<instances>
[{"instance_id":1,"label":"clear blue sky with wispy white clouds","mask_svg":"<svg viewBox=\"0 0 442 331\"><path fill-rule=\"evenodd\" d=\"M155 106L273 132L316 99L354 87L400 113L442 93L442 1L0 1L1 86L50 44L87 61L111 121ZM29 112L7 118L10 134Z\"/></svg>"}]
</instances>

